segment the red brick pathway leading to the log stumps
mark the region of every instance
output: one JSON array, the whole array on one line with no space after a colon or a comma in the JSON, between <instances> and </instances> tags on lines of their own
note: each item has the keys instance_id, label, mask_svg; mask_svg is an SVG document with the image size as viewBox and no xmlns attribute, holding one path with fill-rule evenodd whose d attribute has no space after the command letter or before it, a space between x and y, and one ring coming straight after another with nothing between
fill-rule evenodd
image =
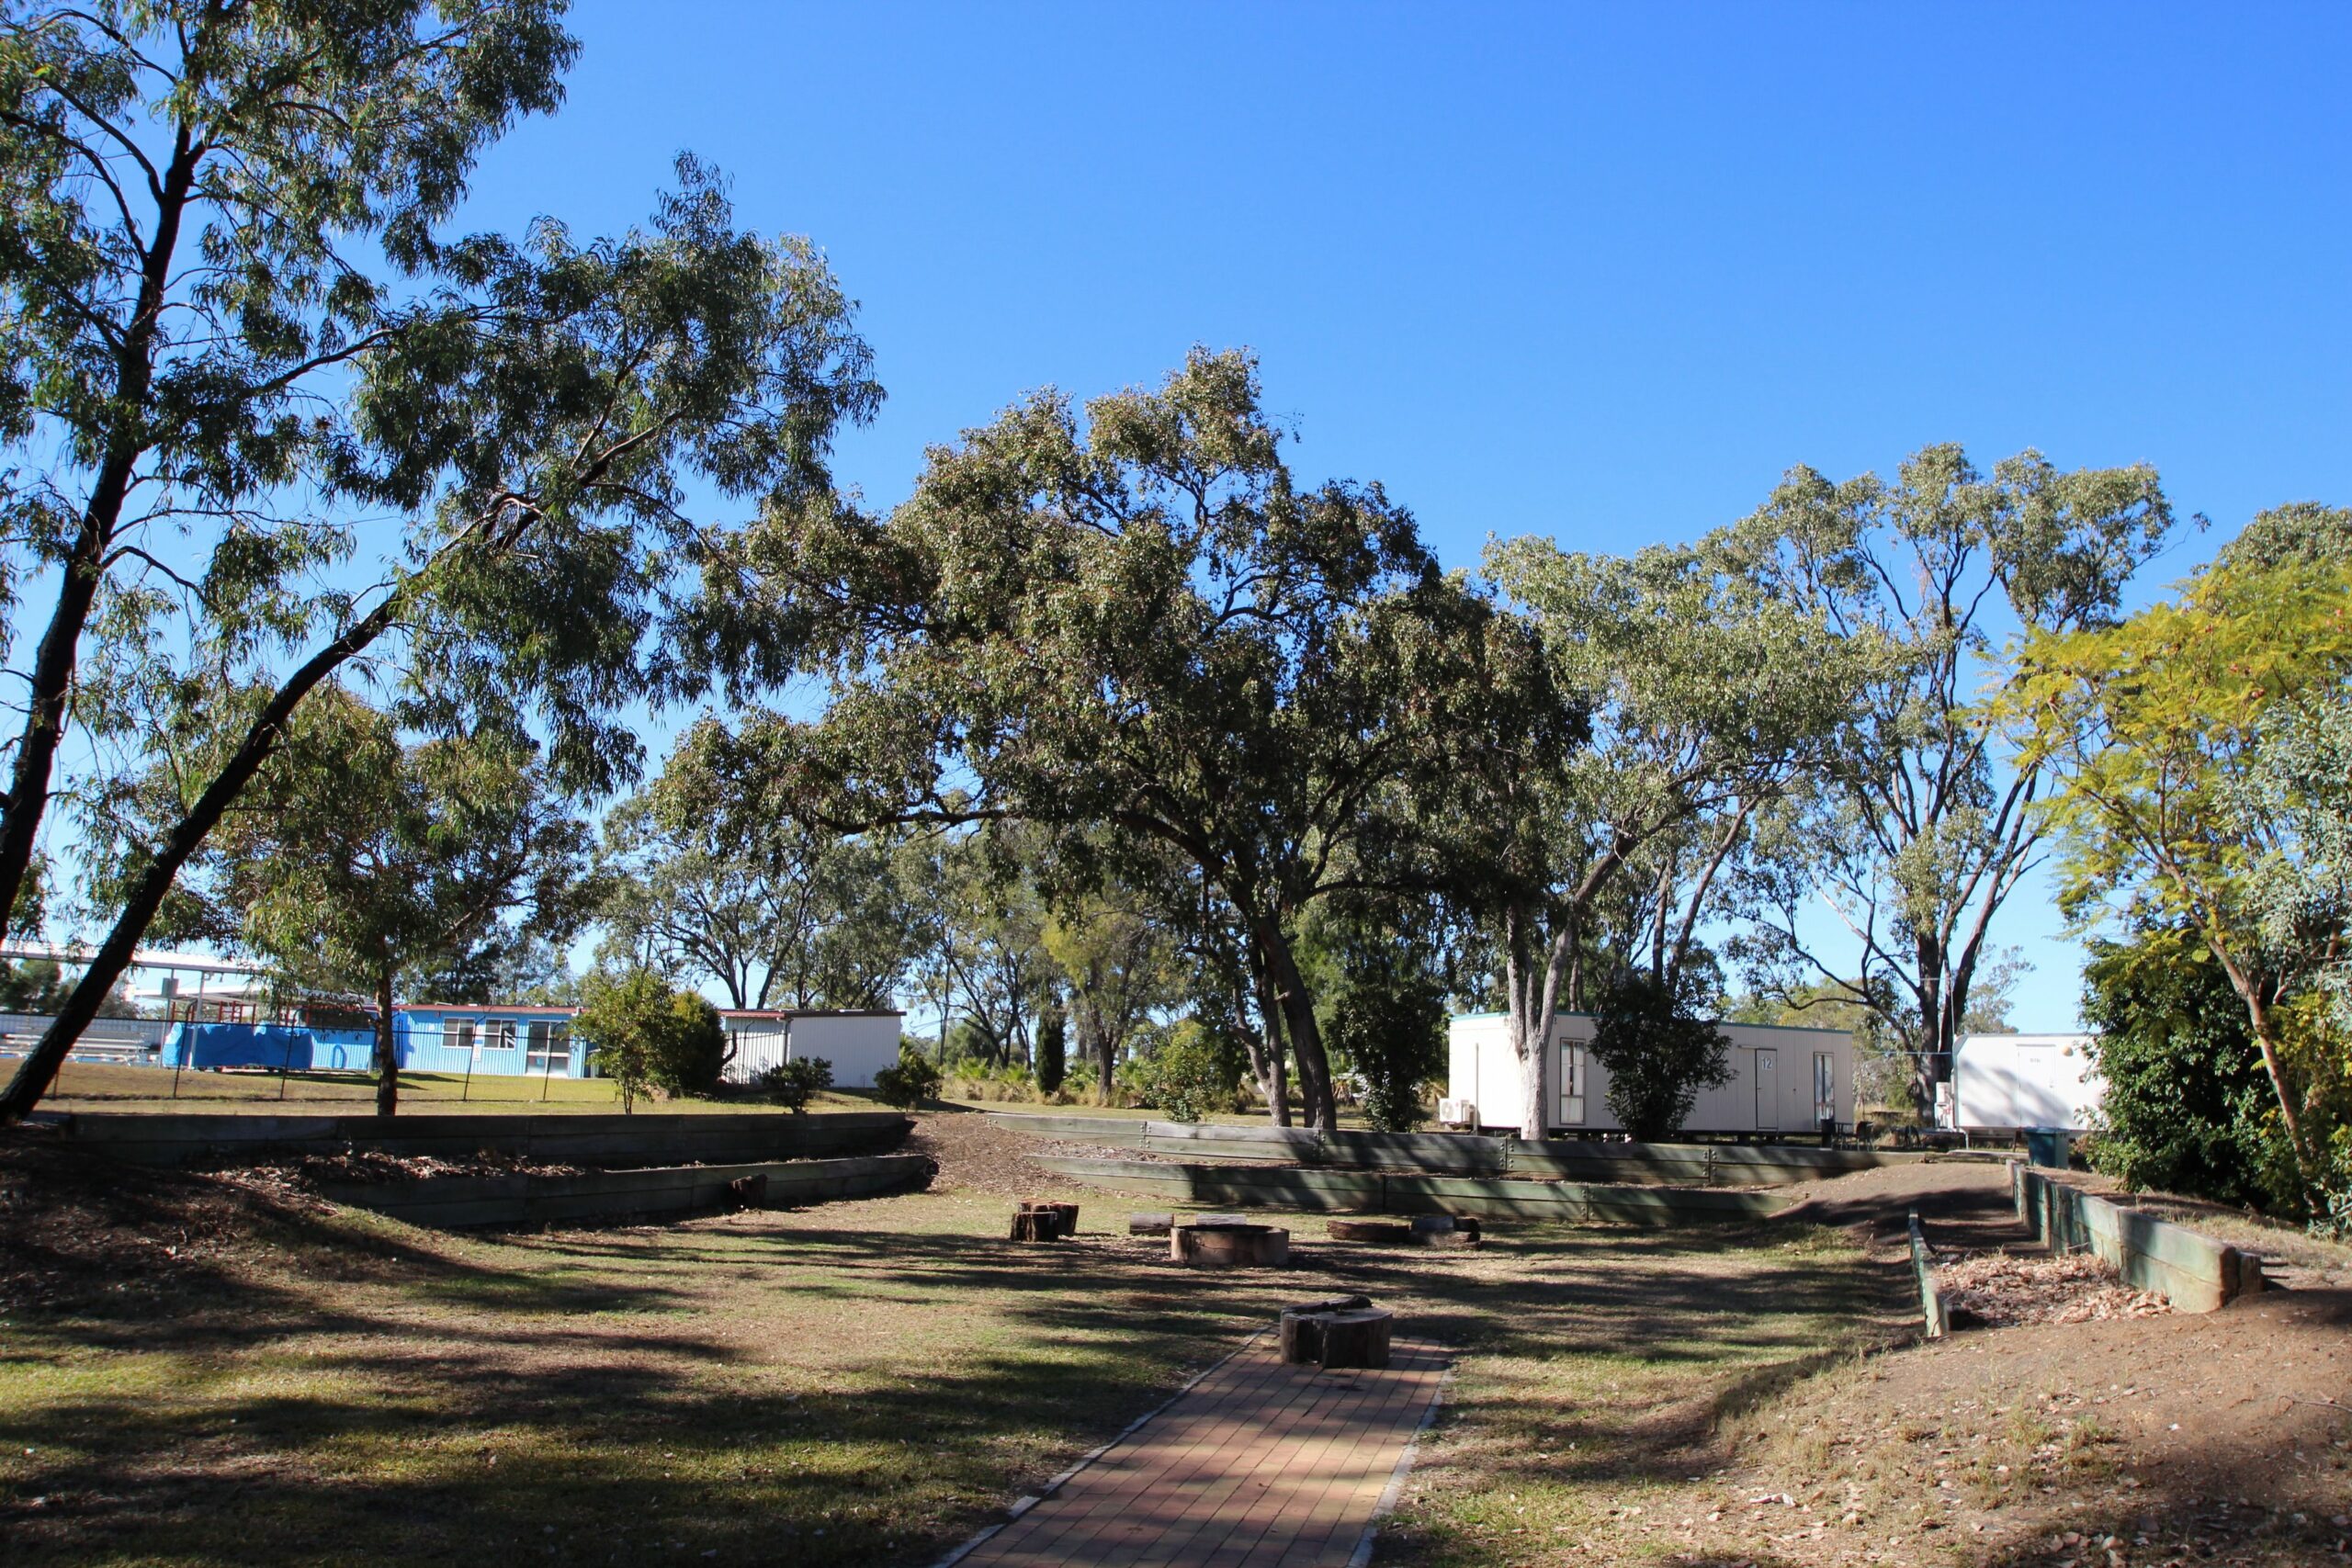
<instances>
[{"instance_id":1,"label":"red brick pathway leading to the log stumps","mask_svg":"<svg viewBox=\"0 0 2352 1568\"><path fill-rule=\"evenodd\" d=\"M1446 1361L1284 1366L1261 1335L1068 1476L957 1568L1345 1568Z\"/></svg>"}]
</instances>

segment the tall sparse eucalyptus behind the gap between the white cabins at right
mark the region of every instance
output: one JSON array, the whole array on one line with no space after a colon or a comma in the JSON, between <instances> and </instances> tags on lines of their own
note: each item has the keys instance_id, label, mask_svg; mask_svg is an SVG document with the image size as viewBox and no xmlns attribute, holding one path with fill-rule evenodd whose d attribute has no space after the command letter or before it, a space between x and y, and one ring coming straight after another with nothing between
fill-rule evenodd
<instances>
[{"instance_id":1,"label":"tall sparse eucalyptus behind the gap between the white cabins at right","mask_svg":"<svg viewBox=\"0 0 2352 1568\"><path fill-rule=\"evenodd\" d=\"M1922 1107L1950 1079L1992 922L2044 837L2049 764L2004 743L1980 689L2009 637L2112 623L2171 534L2147 465L2063 473L2025 451L1987 477L1945 444L1893 484L1792 468L1724 536L1790 609L1889 654L1816 788L1776 802L1773 832L1802 858L1750 884L1752 978L1877 1013Z\"/></svg>"}]
</instances>

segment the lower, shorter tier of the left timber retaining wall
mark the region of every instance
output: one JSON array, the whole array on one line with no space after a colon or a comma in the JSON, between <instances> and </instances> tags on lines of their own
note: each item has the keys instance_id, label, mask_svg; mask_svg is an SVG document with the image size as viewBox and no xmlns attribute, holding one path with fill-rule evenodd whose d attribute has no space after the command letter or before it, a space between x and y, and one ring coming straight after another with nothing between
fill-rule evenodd
<instances>
[{"instance_id":1,"label":"lower, shorter tier of the left timber retaining wall","mask_svg":"<svg viewBox=\"0 0 2352 1568\"><path fill-rule=\"evenodd\" d=\"M731 1182L764 1175L762 1208L906 1192L931 1180L924 1154L863 1159L753 1161L731 1166L654 1166L574 1175L426 1175L409 1182L336 1182L334 1204L372 1208L437 1229L644 1220L727 1208Z\"/></svg>"}]
</instances>

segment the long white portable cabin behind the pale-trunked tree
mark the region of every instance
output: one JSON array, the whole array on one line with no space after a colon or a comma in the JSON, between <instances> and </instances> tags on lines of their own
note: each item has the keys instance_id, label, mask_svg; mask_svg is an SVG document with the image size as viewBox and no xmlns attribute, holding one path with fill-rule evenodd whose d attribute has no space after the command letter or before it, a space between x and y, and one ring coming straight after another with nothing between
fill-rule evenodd
<instances>
[{"instance_id":1,"label":"long white portable cabin behind the pale-trunked tree","mask_svg":"<svg viewBox=\"0 0 2352 1568\"><path fill-rule=\"evenodd\" d=\"M1700 1088L1684 1133L1820 1133L1823 1121L1853 1128L1853 1034L1792 1030L1762 1023L1715 1025L1731 1039L1731 1079ZM1623 1131L1609 1114L1609 1072L1585 1048L1588 1013L1552 1018L1552 1114L1545 1126L1564 1135ZM1524 1124L1524 1070L1510 1048L1503 1013L1468 1013L1446 1027L1446 1098L1468 1126Z\"/></svg>"}]
</instances>

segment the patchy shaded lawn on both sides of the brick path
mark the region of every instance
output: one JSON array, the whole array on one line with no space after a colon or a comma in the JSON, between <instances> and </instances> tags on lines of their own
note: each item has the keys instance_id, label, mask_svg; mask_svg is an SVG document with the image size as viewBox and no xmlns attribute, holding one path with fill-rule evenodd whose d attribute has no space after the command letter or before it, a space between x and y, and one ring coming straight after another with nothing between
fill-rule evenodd
<instances>
[{"instance_id":1,"label":"patchy shaded lawn on both sides of the brick path","mask_svg":"<svg viewBox=\"0 0 2352 1568\"><path fill-rule=\"evenodd\" d=\"M927 1563L1279 1302L1362 1288L1463 1352L1383 1559L1522 1561L1519 1530L1679 1481L1658 1455L1863 1333L1835 1232L1461 1255L1294 1218L1298 1267L1216 1276L1087 1201L1098 1234L1054 1248L964 1192L508 1239L315 1215L207 1279L19 1309L7 1556Z\"/></svg>"}]
</instances>

